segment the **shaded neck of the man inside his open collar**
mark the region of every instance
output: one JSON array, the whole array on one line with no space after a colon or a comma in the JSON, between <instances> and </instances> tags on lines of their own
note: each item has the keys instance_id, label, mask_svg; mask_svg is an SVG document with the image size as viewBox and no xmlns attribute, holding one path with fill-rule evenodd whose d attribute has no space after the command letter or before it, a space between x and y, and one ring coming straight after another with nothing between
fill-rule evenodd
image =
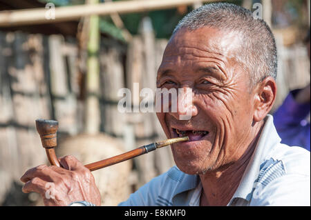
<instances>
[{"instance_id":1,"label":"shaded neck of the man inside his open collar","mask_svg":"<svg viewBox=\"0 0 311 220\"><path fill-rule=\"evenodd\" d=\"M254 131L254 139L246 145L244 153L236 162L199 175L202 183L200 206L227 206L256 148L263 124Z\"/></svg>"}]
</instances>

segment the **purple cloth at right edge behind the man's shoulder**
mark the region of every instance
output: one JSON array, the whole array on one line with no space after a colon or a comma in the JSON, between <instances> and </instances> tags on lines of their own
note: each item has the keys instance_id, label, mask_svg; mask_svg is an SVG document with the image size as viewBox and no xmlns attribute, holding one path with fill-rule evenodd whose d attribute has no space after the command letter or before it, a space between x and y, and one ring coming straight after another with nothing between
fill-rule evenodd
<instances>
[{"instance_id":1,"label":"purple cloth at right edge behind the man's shoulder","mask_svg":"<svg viewBox=\"0 0 311 220\"><path fill-rule=\"evenodd\" d=\"M305 120L310 112L310 103L296 103L294 95L298 91L290 92L274 112L274 125L282 139L281 143L300 146L310 151L310 123Z\"/></svg>"}]
</instances>

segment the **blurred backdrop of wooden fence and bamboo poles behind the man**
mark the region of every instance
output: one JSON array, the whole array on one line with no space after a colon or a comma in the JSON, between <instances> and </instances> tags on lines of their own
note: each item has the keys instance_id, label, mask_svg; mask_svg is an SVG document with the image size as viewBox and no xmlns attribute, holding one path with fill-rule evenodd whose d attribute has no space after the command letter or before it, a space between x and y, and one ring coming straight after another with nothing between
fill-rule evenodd
<instances>
[{"instance_id":1,"label":"blurred backdrop of wooden fence and bamboo poles behind the man","mask_svg":"<svg viewBox=\"0 0 311 220\"><path fill-rule=\"evenodd\" d=\"M87 16L77 16L79 10L72 8L97 3L102 5L96 8L106 7L111 1L0 0L1 206L43 205L38 194L23 194L19 181L28 168L48 164L35 119L57 120L57 156L73 154L83 163L165 139L154 113L118 112L117 91L133 90L133 83L140 83L140 90L156 88L156 72L173 28L187 12L215 1L171 1L162 7L164 1L159 0L146 9L142 2L149 0L134 5L123 0L120 8L129 11ZM303 44L310 0L226 2L252 11L254 3L263 6L263 19L274 32L279 53L274 112L290 90L310 82ZM64 19L57 19L56 12L53 20L54 6L67 8ZM51 13L37 19L35 8ZM26 11L10 17L21 9ZM93 172L102 206L124 201L173 165L170 148L162 148Z\"/></svg>"}]
</instances>

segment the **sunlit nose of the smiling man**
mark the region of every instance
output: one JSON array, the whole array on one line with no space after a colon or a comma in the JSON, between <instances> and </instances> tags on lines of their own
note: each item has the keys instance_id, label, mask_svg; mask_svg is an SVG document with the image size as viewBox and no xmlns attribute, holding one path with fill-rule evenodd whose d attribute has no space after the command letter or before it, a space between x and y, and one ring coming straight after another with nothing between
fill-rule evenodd
<instances>
[{"instance_id":1,"label":"sunlit nose of the smiling man","mask_svg":"<svg viewBox=\"0 0 311 220\"><path fill-rule=\"evenodd\" d=\"M179 88L176 108L171 108L169 114L178 120L189 120L198 114L198 108L194 104L194 92L191 88Z\"/></svg>"}]
</instances>

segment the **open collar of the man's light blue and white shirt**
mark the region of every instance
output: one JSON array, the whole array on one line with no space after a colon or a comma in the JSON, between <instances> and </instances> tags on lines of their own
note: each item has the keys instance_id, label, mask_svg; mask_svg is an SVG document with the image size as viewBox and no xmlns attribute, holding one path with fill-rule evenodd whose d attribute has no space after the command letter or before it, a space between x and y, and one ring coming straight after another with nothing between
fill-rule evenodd
<instances>
[{"instance_id":1,"label":"open collar of the man's light blue and white shirt","mask_svg":"<svg viewBox=\"0 0 311 220\"><path fill-rule=\"evenodd\" d=\"M254 153L252 154L252 158L250 159L238 189L234 193L234 196L232 197L229 204L232 203L235 198L242 198L246 199L247 201L251 199L251 192L254 186L254 182L258 177L260 165L263 162L264 156L271 150L274 144L279 143L280 141L281 139L277 134L273 124L273 117L270 114L267 114L265 117L265 125L261 131L257 146L254 150ZM175 203L174 201L178 201L178 197L183 197L183 199L190 199L194 189L198 186L198 183L200 183L200 178L198 175L185 174L182 178L182 181L178 183L175 192L173 192L173 203ZM191 193L188 195L183 194L183 192L187 192L189 190L191 190Z\"/></svg>"}]
</instances>

